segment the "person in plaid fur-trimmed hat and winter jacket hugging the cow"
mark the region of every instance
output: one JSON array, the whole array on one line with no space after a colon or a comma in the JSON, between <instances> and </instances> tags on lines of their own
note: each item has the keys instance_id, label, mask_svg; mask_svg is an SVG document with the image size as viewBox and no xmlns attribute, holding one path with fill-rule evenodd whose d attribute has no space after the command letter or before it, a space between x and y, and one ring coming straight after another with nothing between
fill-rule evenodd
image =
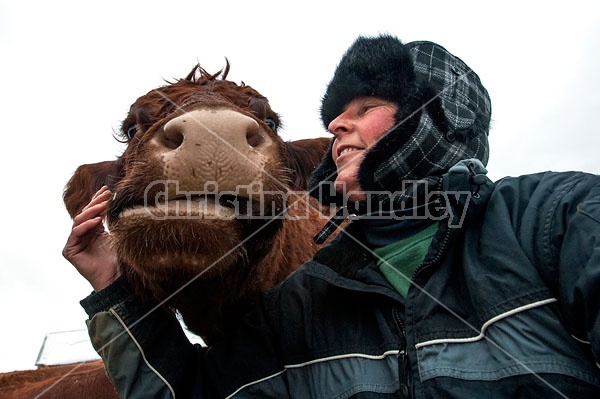
<instances>
[{"instance_id":1,"label":"person in plaid fur-trimmed hat and winter jacket hugging the cow","mask_svg":"<svg viewBox=\"0 0 600 399\"><path fill-rule=\"evenodd\" d=\"M119 394L600 397L600 177L490 181L489 95L432 42L358 37L321 117L310 192L351 221L209 347L118 275L108 190L75 218L63 253Z\"/></svg>"}]
</instances>

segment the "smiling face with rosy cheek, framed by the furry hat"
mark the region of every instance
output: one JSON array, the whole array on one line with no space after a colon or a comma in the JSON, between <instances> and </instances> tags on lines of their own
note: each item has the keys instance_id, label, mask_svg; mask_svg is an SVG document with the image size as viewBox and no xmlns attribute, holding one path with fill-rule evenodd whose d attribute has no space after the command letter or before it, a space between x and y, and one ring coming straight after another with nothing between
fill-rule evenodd
<instances>
[{"instance_id":1,"label":"smiling face with rosy cheek, framed by the furry hat","mask_svg":"<svg viewBox=\"0 0 600 399\"><path fill-rule=\"evenodd\" d=\"M377 97L358 97L328 126L334 136L332 156L337 166L336 191L348 199L364 199L358 184L358 167L366 151L395 123L396 104Z\"/></svg>"}]
</instances>

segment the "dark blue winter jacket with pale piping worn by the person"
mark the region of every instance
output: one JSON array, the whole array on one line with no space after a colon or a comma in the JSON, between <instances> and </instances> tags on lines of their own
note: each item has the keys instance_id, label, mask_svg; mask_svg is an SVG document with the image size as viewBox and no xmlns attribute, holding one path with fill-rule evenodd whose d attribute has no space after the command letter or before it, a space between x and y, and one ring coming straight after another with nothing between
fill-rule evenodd
<instances>
[{"instance_id":1,"label":"dark blue winter jacket with pale piping worn by the person","mask_svg":"<svg viewBox=\"0 0 600 399\"><path fill-rule=\"evenodd\" d=\"M119 280L82 301L127 398L599 398L600 176L444 176L406 299L350 223L208 348ZM466 193L466 194L465 194Z\"/></svg>"}]
</instances>

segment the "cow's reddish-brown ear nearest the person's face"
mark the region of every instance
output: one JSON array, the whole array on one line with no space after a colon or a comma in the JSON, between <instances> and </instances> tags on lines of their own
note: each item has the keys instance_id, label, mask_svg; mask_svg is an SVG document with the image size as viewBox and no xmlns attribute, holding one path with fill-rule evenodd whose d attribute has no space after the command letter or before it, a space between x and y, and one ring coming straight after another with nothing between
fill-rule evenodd
<instances>
[{"instance_id":1,"label":"cow's reddish-brown ear nearest the person's face","mask_svg":"<svg viewBox=\"0 0 600 399\"><path fill-rule=\"evenodd\" d=\"M286 167L293 171L291 185L294 190L306 190L312 172L321 164L321 160L331 139L318 137L285 142L284 159Z\"/></svg>"}]
</instances>

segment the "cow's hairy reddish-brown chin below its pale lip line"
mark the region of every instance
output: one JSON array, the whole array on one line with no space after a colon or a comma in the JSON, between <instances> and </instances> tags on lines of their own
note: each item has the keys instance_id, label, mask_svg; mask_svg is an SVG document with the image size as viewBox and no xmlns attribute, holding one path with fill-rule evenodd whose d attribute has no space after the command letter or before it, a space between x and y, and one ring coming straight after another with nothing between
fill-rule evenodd
<instances>
[{"instance_id":1,"label":"cow's hairy reddish-brown chin below its pale lip line","mask_svg":"<svg viewBox=\"0 0 600 399\"><path fill-rule=\"evenodd\" d=\"M213 278L245 259L238 220L184 215L181 209L167 217L164 211L130 209L110 226L121 265L134 286L168 296L192 280Z\"/></svg>"}]
</instances>

